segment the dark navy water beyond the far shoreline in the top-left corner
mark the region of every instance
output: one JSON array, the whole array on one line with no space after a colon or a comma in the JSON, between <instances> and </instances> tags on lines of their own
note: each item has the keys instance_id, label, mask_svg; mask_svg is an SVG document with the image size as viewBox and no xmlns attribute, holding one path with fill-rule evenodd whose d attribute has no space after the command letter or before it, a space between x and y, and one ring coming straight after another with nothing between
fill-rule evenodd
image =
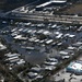
<instances>
[{"instance_id":1,"label":"dark navy water beyond the far shoreline in the top-left corner","mask_svg":"<svg viewBox=\"0 0 82 82\"><path fill-rule=\"evenodd\" d=\"M35 2L37 0L0 0L0 12L10 11L24 4ZM38 3L43 3L48 0L38 0Z\"/></svg>"}]
</instances>

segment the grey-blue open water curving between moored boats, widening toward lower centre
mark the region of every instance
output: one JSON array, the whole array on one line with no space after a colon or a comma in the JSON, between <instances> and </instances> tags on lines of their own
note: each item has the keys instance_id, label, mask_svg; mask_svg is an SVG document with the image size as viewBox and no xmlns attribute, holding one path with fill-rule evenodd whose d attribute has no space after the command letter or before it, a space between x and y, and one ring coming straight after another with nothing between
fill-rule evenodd
<instances>
[{"instance_id":1,"label":"grey-blue open water curving between moored boats, widening toward lower centre","mask_svg":"<svg viewBox=\"0 0 82 82\"><path fill-rule=\"evenodd\" d=\"M13 43L13 38L10 35L2 35L2 37L7 40L8 44L11 44L12 50L17 50L20 55L32 65L42 63L47 57L46 54L39 51L27 51L22 48L17 43Z\"/></svg>"}]
</instances>

